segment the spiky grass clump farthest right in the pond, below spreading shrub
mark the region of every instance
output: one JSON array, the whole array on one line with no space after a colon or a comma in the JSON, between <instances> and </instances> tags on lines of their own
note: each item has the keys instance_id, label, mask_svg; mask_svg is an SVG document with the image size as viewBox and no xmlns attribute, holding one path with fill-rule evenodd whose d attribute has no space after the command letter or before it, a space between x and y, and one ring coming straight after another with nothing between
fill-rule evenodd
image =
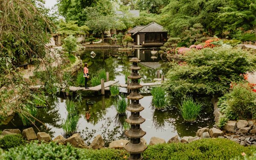
<instances>
[{"instance_id":1,"label":"spiky grass clump farthest right in the pond, below spreading shrub","mask_svg":"<svg viewBox=\"0 0 256 160\"><path fill-rule=\"evenodd\" d=\"M187 122L194 122L200 111L203 109L203 104L199 102L194 102L191 96L186 97L181 102L180 113L183 119Z\"/></svg>"}]
</instances>

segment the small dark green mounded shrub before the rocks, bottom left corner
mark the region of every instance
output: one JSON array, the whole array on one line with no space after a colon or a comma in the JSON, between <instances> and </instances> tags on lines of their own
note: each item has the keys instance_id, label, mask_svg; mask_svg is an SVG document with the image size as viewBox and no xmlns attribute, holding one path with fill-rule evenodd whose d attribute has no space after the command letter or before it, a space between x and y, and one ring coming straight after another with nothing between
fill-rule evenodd
<instances>
[{"instance_id":1,"label":"small dark green mounded shrub before the rocks, bottom left corner","mask_svg":"<svg viewBox=\"0 0 256 160\"><path fill-rule=\"evenodd\" d=\"M25 140L21 134L5 135L0 139L0 148L5 150L19 145L25 145Z\"/></svg>"}]
</instances>

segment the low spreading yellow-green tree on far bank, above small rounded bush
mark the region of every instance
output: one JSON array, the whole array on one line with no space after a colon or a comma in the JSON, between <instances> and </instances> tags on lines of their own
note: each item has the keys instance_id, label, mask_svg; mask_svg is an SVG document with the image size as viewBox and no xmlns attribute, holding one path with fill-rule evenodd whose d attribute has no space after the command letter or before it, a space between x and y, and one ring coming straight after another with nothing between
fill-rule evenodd
<instances>
[{"instance_id":1,"label":"low spreading yellow-green tree on far bank, above small rounded bush","mask_svg":"<svg viewBox=\"0 0 256 160\"><path fill-rule=\"evenodd\" d=\"M58 31L56 32L57 34L60 35L80 35L80 34L85 34L85 33L89 33L89 28L85 25L83 26L78 26L76 23L78 21L73 21L70 20L69 22L65 22L64 20L60 20L59 25L58 25Z\"/></svg>"}]
</instances>

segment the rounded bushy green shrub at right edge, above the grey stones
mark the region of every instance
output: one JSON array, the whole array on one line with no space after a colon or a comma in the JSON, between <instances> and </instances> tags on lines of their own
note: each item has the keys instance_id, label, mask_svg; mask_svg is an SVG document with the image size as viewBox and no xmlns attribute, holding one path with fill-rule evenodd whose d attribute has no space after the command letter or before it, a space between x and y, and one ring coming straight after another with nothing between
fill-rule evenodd
<instances>
[{"instance_id":1,"label":"rounded bushy green shrub at right edge, above the grey stones","mask_svg":"<svg viewBox=\"0 0 256 160\"><path fill-rule=\"evenodd\" d=\"M256 93L250 84L239 83L230 93L220 98L218 106L228 119L255 119Z\"/></svg>"}]
</instances>

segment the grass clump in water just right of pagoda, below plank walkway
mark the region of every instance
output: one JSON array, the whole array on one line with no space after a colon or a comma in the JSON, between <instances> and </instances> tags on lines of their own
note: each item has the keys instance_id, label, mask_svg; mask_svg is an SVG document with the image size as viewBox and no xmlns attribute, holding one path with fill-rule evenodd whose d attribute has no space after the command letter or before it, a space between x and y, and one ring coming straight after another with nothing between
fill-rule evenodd
<instances>
[{"instance_id":1,"label":"grass clump in water just right of pagoda, below plank walkway","mask_svg":"<svg viewBox=\"0 0 256 160\"><path fill-rule=\"evenodd\" d=\"M162 87L153 87L151 90L151 105L158 110L164 109L169 105L170 98Z\"/></svg>"}]
</instances>

